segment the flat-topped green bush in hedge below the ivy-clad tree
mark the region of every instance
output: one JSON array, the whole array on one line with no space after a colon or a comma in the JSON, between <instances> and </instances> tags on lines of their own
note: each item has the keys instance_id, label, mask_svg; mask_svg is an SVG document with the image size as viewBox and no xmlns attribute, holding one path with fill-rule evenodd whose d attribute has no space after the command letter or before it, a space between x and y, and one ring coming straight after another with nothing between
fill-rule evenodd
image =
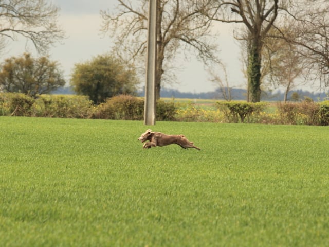
<instances>
[{"instance_id":1,"label":"flat-topped green bush in hedge below the ivy-clad tree","mask_svg":"<svg viewBox=\"0 0 329 247\"><path fill-rule=\"evenodd\" d=\"M259 114L267 106L267 103L249 103L249 102L216 102L216 107L222 111L228 122L250 122L250 116L252 113Z\"/></svg>"}]
</instances>

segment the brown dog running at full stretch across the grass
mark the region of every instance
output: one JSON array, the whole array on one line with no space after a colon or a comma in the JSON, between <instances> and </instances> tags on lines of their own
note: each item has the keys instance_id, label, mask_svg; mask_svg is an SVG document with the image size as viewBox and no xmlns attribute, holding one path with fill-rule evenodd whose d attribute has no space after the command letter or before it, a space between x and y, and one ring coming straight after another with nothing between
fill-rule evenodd
<instances>
[{"instance_id":1,"label":"brown dog running at full stretch across the grass","mask_svg":"<svg viewBox=\"0 0 329 247\"><path fill-rule=\"evenodd\" d=\"M152 130L147 130L145 133L141 134L138 138L141 143L149 140L150 142L144 143L143 148L152 148L152 147L163 147L170 144L177 144L182 148L195 148L201 150L200 148L194 146L193 142L190 142L184 135L166 135L161 132L152 132Z\"/></svg>"}]
</instances>

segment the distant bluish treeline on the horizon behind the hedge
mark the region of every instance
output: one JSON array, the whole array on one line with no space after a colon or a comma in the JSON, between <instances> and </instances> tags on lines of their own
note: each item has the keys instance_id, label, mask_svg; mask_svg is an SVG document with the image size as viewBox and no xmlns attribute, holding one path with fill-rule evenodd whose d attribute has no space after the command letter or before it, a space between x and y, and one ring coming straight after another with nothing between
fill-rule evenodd
<instances>
[{"instance_id":1,"label":"distant bluish treeline on the horizon behind the hedge","mask_svg":"<svg viewBox=\"0 0 329 247\"><path fill-rule=\"evenodd\" d=\"M295 97L291 97L295 93ZM75 94L75 92L71 89L71 87L62 87L61 89L52 92L52 94ZM303 90L294 90L288 93L288 100L296 101L296 94L300 100L304 100L305 97L311 98L314 101L326 100L329 95L324 92L309 92ZM144 91L137 92L137 96L144 96ZM187 98L187 99L218 99L225 100L220 89L217 89L213 92L204 92L204 93L187 93L180 92L179 90L174 89L161 89L160 96L162 98ZM247 98L247 90L245 89L231 89L231 97L232 100L246 100ZM270 92L263 91L262 92L262 100L264 101L283 101L284 93L280 91Z\"/></svg>"}]
</instances>

